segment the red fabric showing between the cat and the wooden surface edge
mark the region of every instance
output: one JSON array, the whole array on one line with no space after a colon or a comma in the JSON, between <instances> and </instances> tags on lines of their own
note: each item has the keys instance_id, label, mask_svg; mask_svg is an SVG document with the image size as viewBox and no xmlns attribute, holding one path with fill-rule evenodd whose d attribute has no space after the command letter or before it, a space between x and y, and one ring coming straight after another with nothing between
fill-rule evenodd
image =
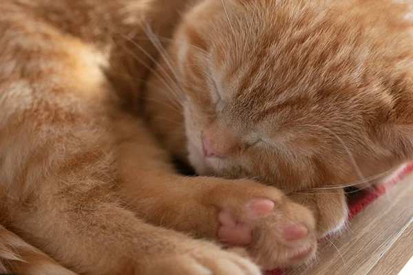
<instances>
[{"instance_id":1,"label":"red fabric showing between the cat and the wooden surface edge","mask_svg":"<svg viewBox=\"0 0 413 275\"><path fill-rule=\"evenodd\" d=\"M348 196L348 218L351 219L354 217L358 212L366 208L374 199L377 199L381 195L385 193L385 191L392 185L396 184L398 181L412 173L413 171L413 162L406 164L400 170L396 171L394 175L388 177L383 181L378 187L375 187L370 190L359 190L357 192L352 193ZM286 272L287 269L284 270L271 270L266 272L266 275L281 275L282 273Z\"/></svg>"}]
</instances>

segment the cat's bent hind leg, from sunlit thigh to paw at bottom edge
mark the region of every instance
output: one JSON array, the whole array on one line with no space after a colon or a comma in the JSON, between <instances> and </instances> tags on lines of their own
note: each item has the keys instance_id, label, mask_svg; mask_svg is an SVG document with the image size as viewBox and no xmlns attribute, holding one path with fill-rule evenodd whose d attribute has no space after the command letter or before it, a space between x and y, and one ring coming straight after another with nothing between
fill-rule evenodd
<instances>
[{"instance_id":1,"label":"cat's bent hind leg, from sunlit thigh to paw at bottom edge","mask_svg":"<svg viewBox=\"0 0 413 275\"><path fill-rule=\"evenodd\" d=\"M238 254L125 209L105 107L116 102L98 53L42 23L10 29L0 54L13 61L0 76L2 224L79 274L260 274Z\"/></svg>"}]
</instances>

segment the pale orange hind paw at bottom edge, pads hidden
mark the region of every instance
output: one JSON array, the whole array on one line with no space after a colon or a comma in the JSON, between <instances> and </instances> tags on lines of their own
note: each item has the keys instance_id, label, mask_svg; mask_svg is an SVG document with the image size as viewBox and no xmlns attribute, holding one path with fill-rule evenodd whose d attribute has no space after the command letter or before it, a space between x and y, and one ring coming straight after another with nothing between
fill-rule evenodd
<instances>
[{"instance_id":1,"label":"pale orange hind paw at bottom edge, pads hidden","mask_svg":"<svg viewBox=\"0 0 413 275\"><path fill-rule=\"evenodd\" d=\"M240 251L240 250L238 250ZM235 253L215 245L198 242L190 251L160 257L151 263L147 274L169 275L261 275L260 268L244 258L246 252ZM145 273L146 274L146 273Z\"/></svg>"}]
</instances>

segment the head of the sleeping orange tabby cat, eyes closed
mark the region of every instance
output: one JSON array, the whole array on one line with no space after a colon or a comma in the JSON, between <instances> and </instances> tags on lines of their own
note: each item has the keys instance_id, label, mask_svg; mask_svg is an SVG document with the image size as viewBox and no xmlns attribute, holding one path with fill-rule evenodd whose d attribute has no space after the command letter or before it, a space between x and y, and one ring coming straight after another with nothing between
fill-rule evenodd
<instances>
[{"instance_id":1,"label":"head of the sleeping orange tabby cat, eyes closed","mask_svg":"<svg viewBox=\"0 0 413 275\"><path fill-rule=\"evenodd\" d=\"M411 22L390 1L338 2L205 0L187 14L175 54L198 173L290 190L410 159Z\"/></svg>"}]
</instances>

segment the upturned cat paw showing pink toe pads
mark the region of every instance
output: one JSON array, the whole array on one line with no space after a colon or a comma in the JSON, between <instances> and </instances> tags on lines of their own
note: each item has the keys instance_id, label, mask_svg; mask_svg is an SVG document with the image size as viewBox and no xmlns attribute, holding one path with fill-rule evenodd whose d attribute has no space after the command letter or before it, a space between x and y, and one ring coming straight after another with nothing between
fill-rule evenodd
<instances>
[{"instance_id":1,"label":"upturned cat paw showing pink toe pads","mask_svg":"<svg viewBox=\"0 0 413 275\"><path fill-rule=\"evenodd\" d=\"M274 191L275 192L275 191ZM257 193L257 192L251 192ZM308 208L276 190L251 199L232 197L218 214L218 239L245 246L265 269L304 263L315 255L315 219Z\"/></svg>"}]
</instances>

